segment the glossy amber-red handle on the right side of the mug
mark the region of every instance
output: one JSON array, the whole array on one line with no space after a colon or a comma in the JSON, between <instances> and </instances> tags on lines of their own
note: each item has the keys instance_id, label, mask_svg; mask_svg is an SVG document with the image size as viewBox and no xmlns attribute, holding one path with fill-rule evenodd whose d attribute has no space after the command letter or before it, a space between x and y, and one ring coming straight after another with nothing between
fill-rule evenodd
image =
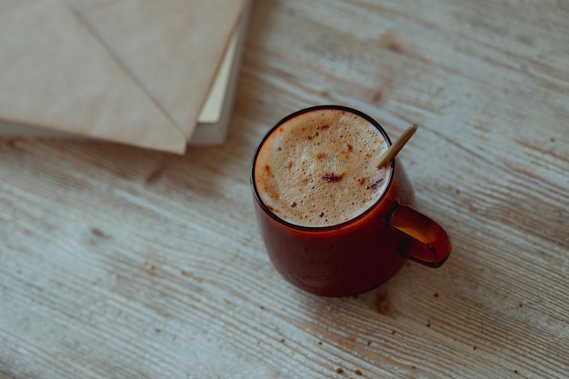
<instances>
[{"instance_id":1,"label":"glossy amber-red handle on the right side of the mug","mask_svg":"<svg viewBox=\"0 0 569 379\"><path fill-rule=\"evenodd\" d=\"M429 267L440 267L451 253L443 227L407 205L397 204L387 223L404 234L397 253Z\"/></svg>"}]
</instances>

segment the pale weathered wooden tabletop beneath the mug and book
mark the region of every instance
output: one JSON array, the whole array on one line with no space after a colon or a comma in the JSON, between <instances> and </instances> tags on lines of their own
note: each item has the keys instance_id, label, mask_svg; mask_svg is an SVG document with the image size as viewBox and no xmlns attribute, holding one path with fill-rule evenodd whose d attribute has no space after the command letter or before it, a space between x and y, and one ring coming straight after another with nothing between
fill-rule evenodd
<instances>
[{"instance_id":1,"label":"pale weathered wooden tabletop beneath the mug and book","mask_svg":"<svg viewBox=\"0 0 569 379\"><path fill-rule=\"evenodd\" d=\"M228 140L0 142L0 378L569 375L569 2L257 0ZM270 264L255 145L374 116L454 250L365 294Z\"/></svg>"}]
</instances>

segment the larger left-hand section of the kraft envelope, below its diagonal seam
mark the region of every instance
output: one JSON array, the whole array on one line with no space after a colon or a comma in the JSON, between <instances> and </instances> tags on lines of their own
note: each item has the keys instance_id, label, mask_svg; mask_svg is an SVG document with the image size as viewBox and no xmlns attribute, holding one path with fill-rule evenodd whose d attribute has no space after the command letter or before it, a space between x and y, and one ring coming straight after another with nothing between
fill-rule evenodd
<instances>
[{"instance_id":1,"label":"larger left-hand section of the kraft envelope, below its diagonal seam","mask_svg":"<svg viewBox=\"0 0 569 379\"><path fill-rule=\"evenodd\" d=\"M185 151L185 136L60 0L0 3L0 73L0 118Z\"/></svg>"}]
</instances>

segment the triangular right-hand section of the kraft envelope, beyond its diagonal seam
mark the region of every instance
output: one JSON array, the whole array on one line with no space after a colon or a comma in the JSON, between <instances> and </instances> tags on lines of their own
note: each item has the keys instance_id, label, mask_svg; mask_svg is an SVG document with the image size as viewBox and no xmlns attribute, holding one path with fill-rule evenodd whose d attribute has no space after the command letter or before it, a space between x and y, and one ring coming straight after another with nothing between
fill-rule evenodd
<instances>
[{"instance_id":1,"label":"triangular right-hand section of the kraft envelope, beyond its diagonal seam","mask_svg":"<svg viewBox=\"0 0 569 379\"><path fill-rule=\"evenodd\" d=\"M67 0L189 138L245 0Z\"/></svg>"}]
</instances>

